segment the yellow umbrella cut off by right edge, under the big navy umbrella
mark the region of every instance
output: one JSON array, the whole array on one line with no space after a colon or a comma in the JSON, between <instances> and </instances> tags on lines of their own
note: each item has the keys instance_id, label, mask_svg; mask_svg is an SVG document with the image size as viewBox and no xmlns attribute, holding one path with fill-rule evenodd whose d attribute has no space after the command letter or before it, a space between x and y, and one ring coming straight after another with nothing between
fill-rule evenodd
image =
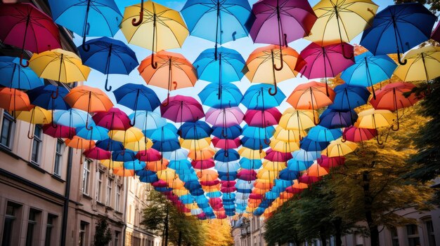
<instances>
[{"instance_id":1,"label":"yellow umbrella cut off by right edge, under the big navy umbrella","mask_svg":"<svg viewBox=\"0 0 440 246\"><path fill-rule=\"evenodd\" d=\"M409 50L403 60L407 61L406 64L399 65L394 71L403 81L430 81L440 76L440 47Z\"/></svg>"}]
</instances>

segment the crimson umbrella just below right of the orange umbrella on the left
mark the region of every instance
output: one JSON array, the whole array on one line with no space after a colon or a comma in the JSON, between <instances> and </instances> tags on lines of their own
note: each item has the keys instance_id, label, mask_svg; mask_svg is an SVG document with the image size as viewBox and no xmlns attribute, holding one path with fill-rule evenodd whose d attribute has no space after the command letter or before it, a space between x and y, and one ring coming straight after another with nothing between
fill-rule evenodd
<instances>
[{"instance_id":1,"label":"crimson umbrella just below right of the orange umbrella on the left","mask_svg":"<svg viewBox=\"0 0 440 246\"><path fill-rule=\"evenodd\" d=\"M108 130L127 130L131 128L129 116L118 108L111 108L107 112L98 112L92 118L96 125Z\"/></svg>"}]
</instances>

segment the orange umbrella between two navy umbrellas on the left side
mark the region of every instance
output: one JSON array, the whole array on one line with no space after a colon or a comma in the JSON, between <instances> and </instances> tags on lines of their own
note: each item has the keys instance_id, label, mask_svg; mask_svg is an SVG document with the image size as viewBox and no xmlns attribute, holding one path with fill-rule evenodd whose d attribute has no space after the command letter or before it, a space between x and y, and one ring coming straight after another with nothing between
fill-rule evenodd
<instances>
[{"instance_id":1,"label":"orange umbrella between two navy umbrellas on the left side","mask_svg":"<svg viewBox=\"0 0 440 246\"><path fill-rule=\"evenodd\" d=\"M89 113L105 112L113 107L113 103L108 96L98 88L90 86L77 86L70 90L64 97L65 102L72 108L87 111L86 128L89 125Z\"/></svg>"}]
</instances>

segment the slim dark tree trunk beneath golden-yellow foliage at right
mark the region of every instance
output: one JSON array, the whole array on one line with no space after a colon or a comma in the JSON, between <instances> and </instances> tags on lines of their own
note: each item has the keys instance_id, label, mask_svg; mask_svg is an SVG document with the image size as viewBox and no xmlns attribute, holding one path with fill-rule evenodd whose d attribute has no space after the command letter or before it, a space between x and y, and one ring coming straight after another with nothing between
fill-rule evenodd
<instances>
[{"instance_id":1,"label":"slim dark tree trunk beneath golden-yellow foliage at right","mask_svg":"<svg viewBox=\"0 0 440 246\"><path fill-rule=\"evenodd\" d=\"M379 246L379 229L373 220L373 198L370 194L370 178L368 177L368 171L363 172L362 177L365 220L367 221L368 230L370 231L371 246Z\"/></svg>"}]
</instances>

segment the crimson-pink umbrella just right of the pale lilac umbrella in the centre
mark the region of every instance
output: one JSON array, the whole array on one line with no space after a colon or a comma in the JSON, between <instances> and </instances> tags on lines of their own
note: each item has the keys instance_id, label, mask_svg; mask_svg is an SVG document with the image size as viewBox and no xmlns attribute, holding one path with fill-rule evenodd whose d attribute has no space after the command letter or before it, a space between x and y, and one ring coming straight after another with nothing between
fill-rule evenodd
<instances>
[{"instance_id":1,"label":"crimson-pink umbrella just right of the pale lilac umbrella in the centre","mask_svg":"<svg viewBox=\"0 0 440 246\"><path fill-rule=\"evenodd\" d=\"M282 114L277 108L266 110L248 109L245 114L247 125L266 128L268 125L278 125Z\"/></svg>"}]
</instances>

